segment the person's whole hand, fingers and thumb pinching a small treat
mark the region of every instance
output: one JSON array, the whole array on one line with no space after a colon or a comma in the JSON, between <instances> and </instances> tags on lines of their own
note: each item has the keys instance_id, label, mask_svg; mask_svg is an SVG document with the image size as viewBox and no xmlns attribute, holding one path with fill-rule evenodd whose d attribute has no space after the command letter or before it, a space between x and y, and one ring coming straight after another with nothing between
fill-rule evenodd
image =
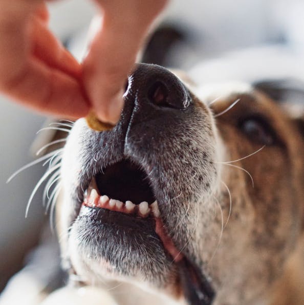
<instances>
[{"instance_id":1,"label":"person's whole hand, fingers and thumb pinching a small treat","mask_svg":"<svg viewBox=\"0 0 304 305\"><path fill-rule=\"evenodd\" d=\"M93 108L115 124L123 86L166 0L95 0L102 23L82 63L48 28L45 1L0 2L0 91L35 110L77 119Z\"/></svg>"}]
</instances>

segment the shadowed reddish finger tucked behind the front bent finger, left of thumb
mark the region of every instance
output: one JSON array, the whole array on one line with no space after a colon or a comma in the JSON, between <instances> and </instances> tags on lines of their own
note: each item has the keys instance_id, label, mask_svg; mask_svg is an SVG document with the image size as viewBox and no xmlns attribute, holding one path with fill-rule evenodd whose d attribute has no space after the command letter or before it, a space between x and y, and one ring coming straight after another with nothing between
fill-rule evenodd
<instances>
[{"instance_id":1,"label":"shadowed reddish finger tucked behind the front bent finger, left of thumb","mask_svg":"<svg viewBox=\"0 0 304 305\"><path fill-rule=\"evenodd\" d=\"M33 21L31 29L32 54L48 66L58 69L73 77L80 78L81 66L72 54L50 32L47 25L38 18Z\"/></svg>"}]
</instances>

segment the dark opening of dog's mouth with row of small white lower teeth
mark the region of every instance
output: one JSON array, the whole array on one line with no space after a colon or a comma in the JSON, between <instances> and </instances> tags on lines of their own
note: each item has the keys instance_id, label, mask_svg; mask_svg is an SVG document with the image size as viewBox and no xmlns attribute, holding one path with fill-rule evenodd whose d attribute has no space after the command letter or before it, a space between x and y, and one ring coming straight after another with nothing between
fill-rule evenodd
<instances>
[{"instance_id":1,"label":"dark opening of dog's mouth with row of small white lower teeth","mask_svg":"<svg viewBox=\"0 0 304 305\"><path fill-rule=\"evenodd\" d=\"M126 160L107 167L93 178L83 204L142 218L160 214L145 173Z\"/></svg>"}]
</instances>

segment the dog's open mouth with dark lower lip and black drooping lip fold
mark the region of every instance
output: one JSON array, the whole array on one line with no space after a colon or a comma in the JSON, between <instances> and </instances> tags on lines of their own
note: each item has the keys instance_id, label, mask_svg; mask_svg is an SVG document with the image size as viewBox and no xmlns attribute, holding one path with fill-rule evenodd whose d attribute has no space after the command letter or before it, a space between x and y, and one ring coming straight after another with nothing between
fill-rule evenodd
<instances>
[{"instance_id":1,"label":"dog's open mouth with dark lower lip and black drooping lip fold","mask_svg":"<svg viewBox=\"0 0 304 305\"><path fill-rule=\"evenodd\" d=\"M84 193L80 215L94 214L100 223L119 230L156 234L171 262L178 267L184 295L190 304L211 304L213 290L195 264L177 249L162 222L157 198L146 173L129 160L106 167Z\"/></svg>"}]
</instances>

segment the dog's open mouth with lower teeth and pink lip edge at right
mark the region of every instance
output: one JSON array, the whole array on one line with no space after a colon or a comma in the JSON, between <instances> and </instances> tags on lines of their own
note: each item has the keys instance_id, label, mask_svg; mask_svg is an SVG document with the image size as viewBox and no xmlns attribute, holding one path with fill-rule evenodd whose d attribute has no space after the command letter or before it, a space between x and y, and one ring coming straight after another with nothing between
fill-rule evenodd
<instances>
[{"instance_id":1,"label":"dog's open mouth with lower teeth and pink lip edge at right","mask_svg":"<svg viewBox=\"0 0 304 305\"><path fill-rule=\"evenodd\" d=\"M149 225L157 233L173 261L182 258L166 232L146 173L131 161L123 160L98 173L85 191L82 205L120 213L116 223L119 226L147 219L145 227Z\"/></svg>"}]
</instances>

